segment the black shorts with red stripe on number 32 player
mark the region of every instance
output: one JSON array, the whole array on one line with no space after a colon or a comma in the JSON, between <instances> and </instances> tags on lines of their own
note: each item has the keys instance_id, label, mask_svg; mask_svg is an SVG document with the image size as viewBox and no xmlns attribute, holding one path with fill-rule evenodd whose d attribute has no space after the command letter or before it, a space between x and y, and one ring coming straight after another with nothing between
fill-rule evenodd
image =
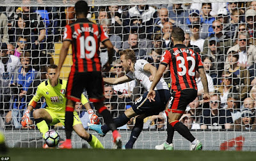
<instances>
[{"instance_id":1,"label":"black shorts with red stripe on number 32 player","mask_svg":"<svg viewBox=\"0 0 256 161\"><path fill-rule=\"evenodd\" d=\"M197 90L189 88L186 90L172 91L168 111L173 113L184 113L188 104L193 102L197 97Z\"/></svg>"}]
</instances>

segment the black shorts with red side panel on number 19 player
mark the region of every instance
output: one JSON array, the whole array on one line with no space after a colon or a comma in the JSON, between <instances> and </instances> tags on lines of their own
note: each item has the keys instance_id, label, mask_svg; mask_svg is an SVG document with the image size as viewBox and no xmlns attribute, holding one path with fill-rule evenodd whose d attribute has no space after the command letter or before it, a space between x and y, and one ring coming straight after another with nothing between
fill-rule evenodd
<instances>
[{"instance_id":1,"label":"black shorts with red side panel on number 19 player","mask_svg":"<svg viewBox=\"0 0 256 161\"><path fill-rule=\"evenodd\" d=\"M91 102L104 100L103 80L100 71L72 73L68 76L67 99L80 102L84 88L87 90Z\"/></svg>"}]
</instances>

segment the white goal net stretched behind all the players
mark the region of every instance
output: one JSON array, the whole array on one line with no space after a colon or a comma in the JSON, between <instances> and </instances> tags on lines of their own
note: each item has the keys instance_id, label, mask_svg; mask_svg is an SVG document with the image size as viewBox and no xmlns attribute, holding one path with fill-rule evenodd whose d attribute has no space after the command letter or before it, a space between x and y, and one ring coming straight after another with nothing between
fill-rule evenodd
<instances>
[{"instance_id":1,"label":"white goal net stretched behind all the players","mask_svg":"<svg viewBox=\"0 0 256 161\"><path fill-rule=\"evenodd\" d=\"M10 147L42 146L32 114L29 127L22 127L20 119L38 85L47 80L47 67L58 65L65 25L76 20L75 3L74 0L0 1L0 125ZM200 139L206 150L255 150L255 1L90 0L88 4L87 18L103 26L115 49L111 70L102 73L104 77L124 76L119 53L128 48L134 50L137 59L158 67L163 52L173 48L172 29L180 27L185 32L184 45L201 56L212 95L211 101L204 103L204 88L196 74L198 97L188 105L180 122ZM106 47L100 45L102 64L108 61L107 55ZM22 57L28 57L28 62ZM69 48L61 79L67 80L71 66ZM170 67L163 77L171 87ZM104 85L104 92L104 104L116 118L147 91L140 83L131 81ZM42 98L36 108L45 106ZM77 113L88 129L88 114L78 106L79 103ZM99 118L104 124L100 115ZM135 118L131 118L119 128L125 141L129 140L134 123ZM166 123L164 112L145 118L143 132L134 148L154 149L163 143ZM61 123L49 128L58 130L61 138L65 138ZM85 142L76 134L73 139L74 147L84 147ZM111 136L100 141L111 148ZM176 146L179 150L187 150L189 146L177 132L174 144L179 144Z\"/></svg>"}]
</instances>

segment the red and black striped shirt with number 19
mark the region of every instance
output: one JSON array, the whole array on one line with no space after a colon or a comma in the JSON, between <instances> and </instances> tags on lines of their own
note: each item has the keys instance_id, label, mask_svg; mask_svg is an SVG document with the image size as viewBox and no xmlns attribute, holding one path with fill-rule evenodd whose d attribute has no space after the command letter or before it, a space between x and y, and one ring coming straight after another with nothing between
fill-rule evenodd
<instances>
[{"instance_id":1,"label":"red and black striped shirt with number 19","mask_svg":"<svg viewBox=\"0 0 256 161\"><path fill-rule=\"evenodd\" d=\"M108 40L108 34L99 25L86 18L66 25L63 41L72 42L73 66L71 71L92 72L100 71L99 58L100 42Z\"/></svg>"}]
</instances>

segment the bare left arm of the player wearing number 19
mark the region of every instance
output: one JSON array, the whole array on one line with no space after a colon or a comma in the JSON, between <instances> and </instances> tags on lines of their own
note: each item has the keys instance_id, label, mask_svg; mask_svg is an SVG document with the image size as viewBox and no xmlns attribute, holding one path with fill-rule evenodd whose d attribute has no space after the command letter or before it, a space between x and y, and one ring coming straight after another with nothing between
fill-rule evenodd
<instances>
[{"instance_id":1,"label":"bare left arm of the player wearing number 19","mask_svg":"<svg viewBox=\"0 0 256 161\"><path fill-rule=\"evenodd\" d=\"M58 79L60 76L60 71L61 71L61 67L67 57L68 54L68 48L69 45L71 44L71 41L63 41L62 46L61 46L61 50L60 50L60 59L59 59L59 64L58 64L58 68L57 68L57 72L54 75L54 78L52 78L51 80L51 85L52 87L58 85Z\"/></svg>"}]
</instances>

